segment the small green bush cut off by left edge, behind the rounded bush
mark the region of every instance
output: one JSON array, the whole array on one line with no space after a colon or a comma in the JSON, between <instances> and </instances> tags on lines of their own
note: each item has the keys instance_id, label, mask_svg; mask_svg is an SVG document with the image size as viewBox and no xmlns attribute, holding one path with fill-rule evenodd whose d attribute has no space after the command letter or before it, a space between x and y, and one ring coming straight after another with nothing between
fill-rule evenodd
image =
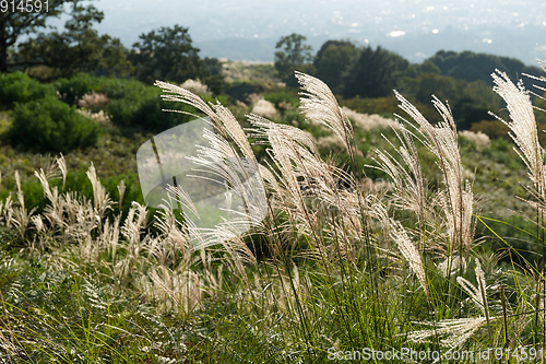
<instances>
[{"instance_id":1,"label":"small green bush cut off by left edge, behind the rounded bush","mask_svg":"<svg viewBox=\"0 0 546 364\"><path fill-rule=\"evenodd\" d=\"M0 108L12 109L15 103L27 103L55 95L50 85L40 84L23 72L0 74Z\"/></svg>"}]
</instances>

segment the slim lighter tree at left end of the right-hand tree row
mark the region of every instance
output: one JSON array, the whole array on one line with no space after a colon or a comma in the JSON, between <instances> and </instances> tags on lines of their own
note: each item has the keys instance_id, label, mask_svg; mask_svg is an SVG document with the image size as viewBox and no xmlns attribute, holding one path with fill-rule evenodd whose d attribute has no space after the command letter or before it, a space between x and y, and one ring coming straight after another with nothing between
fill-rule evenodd
<instances>
[{"instance_id":1,"label":"slim lighter tree at left end of the right-hand tree row","mask_svg":"<svg viewBox=\"0 0 546 364\"><path fill-rule=\"evenodd\" d=\"M314 73L312 47L304 44L305 40L307 38L304 35L293 33L282 37L275 46L275 49L283 49L275 51L275 69L281 80L288 86L298 86L294 77L295 70Z\"/></svg>"}]
</instances>

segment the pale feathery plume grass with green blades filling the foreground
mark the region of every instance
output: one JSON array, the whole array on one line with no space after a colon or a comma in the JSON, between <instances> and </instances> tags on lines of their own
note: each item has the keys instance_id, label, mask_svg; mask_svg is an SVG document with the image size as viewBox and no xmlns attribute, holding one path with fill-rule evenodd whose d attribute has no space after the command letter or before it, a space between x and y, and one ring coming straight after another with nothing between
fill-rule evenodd
<instances>
[{"instance_id":1,"label":"pale feathery plume grass with green blades filling the foreground","mask_svg":"<svg viewBox=\"0 0 546 364\"><path fill-rule=\"evenodd\" d=\"M538 360L546 166L529 92L492 75L530 178L518 207L534 213L532 228L518 246L498 233L506 223L479 210L476 190L487 187L472 169L484 152L506 167L499 178L521 171L503 160L507 141L458 132L438 98L438 122L399 93L397 120L365 117L340 107L320 80L296 78L300 114L293 95L276 93L257 109L276 106L273 120L250 114L240 124L219 103L156 82L165 103L211 118L217 133L198 160L247 198L235 222L200 231L168 206L153 219L138 201L123 211L126 183L107 191L91 165L91 192L68 188L73 172L62 155L35 172L38 210L13 174L13 192L0 201L2 361L321 363L355 359L365 348L441 351L441 362L462 351L451 362L489 362L477 356L488 349L499 361ZM340 153L324 155L332 145ZM259 166L263 221L238 187L237 165L217 169L235 156ZM165 202L192 207L179 189ZM241 221L254 227L234 236L229 224ZM195 235L206 248L193 248Z\"/></svg>"}]
</instances>

